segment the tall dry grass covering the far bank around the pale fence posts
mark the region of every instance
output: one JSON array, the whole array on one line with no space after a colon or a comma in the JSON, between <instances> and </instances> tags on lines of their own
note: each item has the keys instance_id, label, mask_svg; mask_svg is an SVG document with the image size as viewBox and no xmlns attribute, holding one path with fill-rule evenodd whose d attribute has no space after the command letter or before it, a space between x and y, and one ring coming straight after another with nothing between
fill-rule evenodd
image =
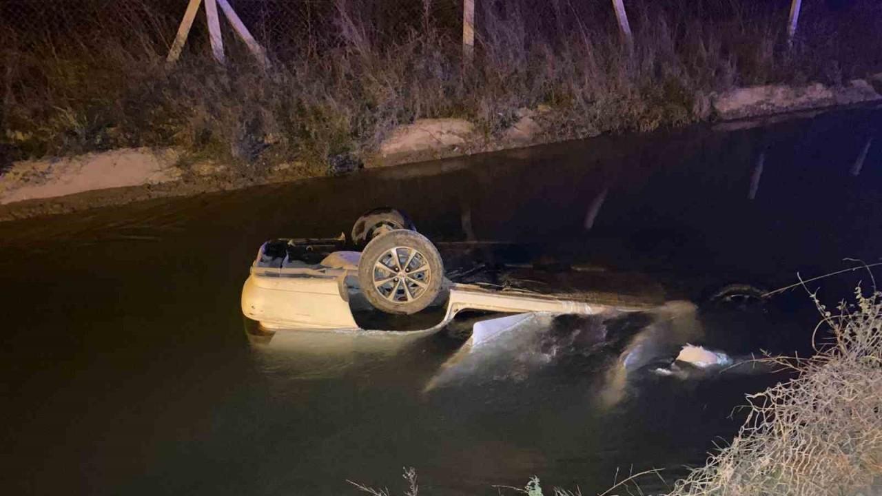
<instances>
[{"instance_id":1,"label":"tall dry grass covering the far bank around the pale fence posts","mask_svg":"<svg viewBox=\"0 0 882 496\"><path fill-rule=\"evenodd\" d=\"M320 174L421 117L464 117L494 139L518 109L544 104L554 109L549 139L650 131L706 118L708 94L730 86L838 83L882 67L874 0L835 12L805 2L792 50L783 43L786 5L632 0L633 54L608 3L479 2L472 71L462 69L453 0L321 4L307 28L264 40L270 71L235 42L228 68L217 67L200 24L181 63L168 67L179 13L117 4L129 8L64 35L34 37L16 19L0 21L7 154L179 146L254 170L302 162L304 173ZM405 13L390 17L396 10Z\"/></svg>"}]
</instances>

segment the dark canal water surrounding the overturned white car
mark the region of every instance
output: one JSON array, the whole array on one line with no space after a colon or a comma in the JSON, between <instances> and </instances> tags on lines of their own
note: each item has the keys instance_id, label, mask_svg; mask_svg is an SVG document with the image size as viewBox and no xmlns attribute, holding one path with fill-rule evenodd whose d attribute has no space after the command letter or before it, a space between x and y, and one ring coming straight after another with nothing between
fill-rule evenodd
<instances>
[{"instance_id":1,"label":"dark canal water surrounding the overturned white car","mask_svg":"<svg viewBox=\"0 0 882 496\"><path fill-rule=\"evenodd\" d=\"M0 224L4 493L355 493L347 479L400 492L405 466L437 494L495 494L534 474L586 493L617 470L676 477L774 377L638 373L605 402L622 349L571 347L424 392L460 342L304 334L252 350L238 307L250 260L265 238L336 235L391 205L439 241L517 243L476 256L640 274L667 299L776 287L878 261L879 124L879 110L851 109ZM804 349L814 323L801 294L767 312L699 306L695 319L733 354ZM638 320L608 324L639 334L651 319Z\"/></svg>"}]
</instances>

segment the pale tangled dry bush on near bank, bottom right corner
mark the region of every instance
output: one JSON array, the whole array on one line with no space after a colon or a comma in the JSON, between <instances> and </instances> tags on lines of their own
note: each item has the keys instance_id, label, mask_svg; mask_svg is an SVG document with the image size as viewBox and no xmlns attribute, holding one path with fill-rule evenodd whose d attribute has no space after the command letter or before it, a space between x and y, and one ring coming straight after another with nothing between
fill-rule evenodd
<instances>
[{"instance_id":1,"label":"pale tangled dry bush on near bank, bottom right corner","mask_svg":"<svg viewBox=\"0 0 882 496\"><path fill-rule=\"evenodd\" d=\"M817 300L816 300L817 303ZM822 305L831 337L798 376L749 396L750 415L729 447L678 481L679 495L857 494L882 477L882 294Z\"/></svg>"}]
</instances>

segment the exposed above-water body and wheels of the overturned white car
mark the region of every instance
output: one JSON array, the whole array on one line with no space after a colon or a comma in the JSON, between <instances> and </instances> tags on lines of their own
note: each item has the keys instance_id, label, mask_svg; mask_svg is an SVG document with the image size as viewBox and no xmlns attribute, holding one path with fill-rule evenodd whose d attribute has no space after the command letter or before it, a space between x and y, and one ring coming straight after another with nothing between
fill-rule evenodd
<instances>
[{"instance_id":1,"label":"exposed above-water body and wheels of the overturned white car","mask_svg":"<svg viewBox=\"0 0 882 496\"><path fill-rule=\"evenodd\" d=\"M263 244L243 287L244 316L269 332L357 330L354 311L410 315L445 309L437 312L440 318L429 327L434 329L464 310L592 314L610 309L560 295L451 282L436 246L397 210L364 214L350 240L341 234ZM361 252L352 249L360 245Z\"/></svg>"}]
</instances>

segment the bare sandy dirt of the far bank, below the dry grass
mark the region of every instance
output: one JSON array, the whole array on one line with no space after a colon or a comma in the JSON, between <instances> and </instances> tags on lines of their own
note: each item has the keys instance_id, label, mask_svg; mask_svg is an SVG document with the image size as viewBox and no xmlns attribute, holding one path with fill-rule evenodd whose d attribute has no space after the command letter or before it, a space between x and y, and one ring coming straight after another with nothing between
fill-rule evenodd
<instances>
[{"instance_id":1,"label":"bare sandy dirt of the far bank, below the dry grass","mask_svg":"<svg viewBox=\"0 0 882 496\"><path fill-rule=\"evenodd\" d=\"M737 88L713 95L711 101L707 118L755 125L766 117L800 110L882 101L882 74L838 87L813 84ZM517 121L503 136L490 140L462 119L422 119L392 132L377 154L366 157L365 166L386 167L568 138L554 132L553 123L553 109L521 109ZM732 124L739 127L736 122ZM0 221L309 176L300 168L284 166L261 174L212 162L181 167L180 158L173 149L132 148L15 162L0 176Z\"/></svg>"}]
</instances>

